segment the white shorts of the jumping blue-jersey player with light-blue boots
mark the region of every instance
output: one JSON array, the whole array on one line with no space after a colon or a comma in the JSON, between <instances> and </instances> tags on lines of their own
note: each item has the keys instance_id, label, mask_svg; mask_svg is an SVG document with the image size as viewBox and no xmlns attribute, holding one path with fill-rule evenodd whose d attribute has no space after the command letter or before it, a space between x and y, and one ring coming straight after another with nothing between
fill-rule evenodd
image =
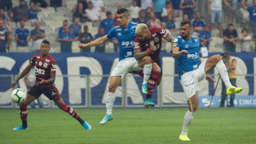
<instances>
[{"instance_id":1,"label":"white shorts of the jumping blue-jersey player with light-blue boots","mask_svg":"<svg viewBox=\"0 0 256 144\"><path fill-rule=\"evenodd\" d=\"M127 73L131 71L137 71L141 68L138 66L138 62L134 57L126 58L121 61L118 61L116 67L113 69L111 73L111 77L113 76L120 76L123 78L126 76Z\"/></svg>"}]
</instances>

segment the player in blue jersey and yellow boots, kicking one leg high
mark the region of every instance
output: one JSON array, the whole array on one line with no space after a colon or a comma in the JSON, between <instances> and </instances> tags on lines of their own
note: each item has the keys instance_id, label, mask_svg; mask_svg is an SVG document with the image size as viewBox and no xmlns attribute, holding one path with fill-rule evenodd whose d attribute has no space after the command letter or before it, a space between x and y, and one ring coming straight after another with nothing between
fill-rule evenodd
<instances>
[{"instance_id":1,"label":"player in blue jersey and yellow boots, kicking one leg high","mask_svg":"<svg viewBox=\"0 0 256 144\"><path fill-rule=\"evenodd\" d=\"M182 141L189 141L188 128L192 123L194 113L197 109L196 92L199 91L198 83L204 78L208 81L216 82L208 74L216 67L222 80L227 87L227 94L234 94L241 92L242 88L236 88L231 85L227 68L223 63L220 55L213 55L207 60L202 61L199 55L199 39L191 35L192 24L190 20L182 20L180 23L180 36L173 40L173 57L178 62L178 73L180 83L186 95L189 110L185 114L184 123L179 139Z\"/></svg>"}]
</instances>

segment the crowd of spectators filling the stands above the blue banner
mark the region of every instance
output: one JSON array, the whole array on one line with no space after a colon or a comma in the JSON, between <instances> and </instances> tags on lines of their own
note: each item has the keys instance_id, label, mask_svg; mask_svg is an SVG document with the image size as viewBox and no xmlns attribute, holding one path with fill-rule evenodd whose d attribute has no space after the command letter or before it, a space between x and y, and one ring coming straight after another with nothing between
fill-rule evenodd
<instances>
[{"instance_id":1,"label":"crowd of spectators filling the stands above the blue banner","mask_svg":"<svg viewBox=\"0 0 256 144\"><path fill-rule=\"evenodd\" d=\"M182 19L190 19L192 21L192 35L199 37L200 47L206 47L207 50L214 36L223 39L223 51L237 52L236 45L240 42L241 52L255 52L255 47L252 47L250 42L256 41L256 32L249 30L253 33L250 36L247 28L237 31L235 24L230 20L231 15L225 15L225 23L228 22L228 26L227 29L223 30L222 12L223 6L226 6L231 12L235 11L235 7L239 3L243 9L249 12L251 23L256 24L256 0L252 0L252 6L247 6L248 0L207 0L208 22L201 17L200 11L196 11L196 1L199 0L132 0L130 6L125 7L129 10L129 17L132 22L145 23L149 27L162 27L173 36L179 35L179 22ZM43 13L49 7L48 3L45 0L17 0L17 2L18 5L13 6L13 1L1 0L0 52L38 53L42 40L47 38L47 30L41 27L38 14ZM62 20L63 25L56 29L58 34L56 34L54 41L60 44L60 52L62 53L72 52L72 43L89 43L106 35L111 28L117 25L116 14L106 10L103 0L77 0L74 2L69 11L71 15L64 18ZM65 5L62 0L50 0L49 4L56 13L59 7ZM117 10L120 8L121 6L118 6ZM13 26L14 23L15 26ZM9 24L12 24L12 27ZM212 34L215 25L219 35ZM32 28L27 29L26 27ZM90 33L92 27L96 27L98 32ZM12 39L12 33L14 33L15 39ZM29 45L30 41L31 44ZM12 43L16 44L11 45ZM97 46L93 50L87 48L81 52L104 53L108 43ZM117 40L113 38L110 43L113 44L114 52L117 52ZM15 46L15 51L10 51L12 46ZM171 45L163 40L162 50L168 51L170 48Z\"/></svg>"}]
</instances>

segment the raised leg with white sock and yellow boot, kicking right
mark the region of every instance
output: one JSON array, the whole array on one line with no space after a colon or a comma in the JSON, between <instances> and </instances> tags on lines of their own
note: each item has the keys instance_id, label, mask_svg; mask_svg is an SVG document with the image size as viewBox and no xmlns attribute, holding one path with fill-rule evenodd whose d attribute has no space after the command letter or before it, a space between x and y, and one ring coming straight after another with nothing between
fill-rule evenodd
<instances>
[{"instance_id":1,"label":"raised leg with white sock and yellow boot, kicking right","mask_svg":"<svg viewBox=\"0 0 256 144\"><path fill-rule=\"evenodd\" d=\"M205 73L208 74L214 67L216 67L217 71L219 72L227 90L226 93L228 95L235 94L241 92L242 88L236 88L231 85L229 76L228 76L228 70L219 54L213 55L212 57L207 59L207 62L205 64Z\"/></svg>"}]
</instances>

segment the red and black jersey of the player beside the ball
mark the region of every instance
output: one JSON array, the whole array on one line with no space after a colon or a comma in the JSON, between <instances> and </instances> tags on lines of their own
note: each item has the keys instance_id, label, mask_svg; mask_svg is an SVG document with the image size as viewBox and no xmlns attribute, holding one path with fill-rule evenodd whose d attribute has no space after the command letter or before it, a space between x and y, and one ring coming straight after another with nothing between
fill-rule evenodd
<instances>
[{"instance_id":1,"label":"red and black jersey of the player beside the ball","mask_svg":"<svg viewBox=\"0 0 256 144\"><path fill-rule=\"evenodd\" d=\"M47 90L55 88L54 84L39 85L41 82L40 78L48 80L51 78L50 73L56 72L55 59L50 54L47 54L46 57L42 57L41 54L36 54L32 56L30 63L35 66L36 82L34 86Z\"/></svg>"}]
</instances>

